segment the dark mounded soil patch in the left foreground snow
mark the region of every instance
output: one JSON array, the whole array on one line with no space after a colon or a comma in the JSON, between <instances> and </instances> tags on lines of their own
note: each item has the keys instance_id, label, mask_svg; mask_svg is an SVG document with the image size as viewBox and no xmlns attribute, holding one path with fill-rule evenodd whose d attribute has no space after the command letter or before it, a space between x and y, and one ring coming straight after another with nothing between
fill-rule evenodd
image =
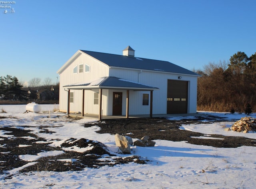
<instances>
[{"instance_id":1,"label":"dark mounded soil patch in the left foreground snow","mask_svg":"<svg viewBox=\"0 0 256 189\"><path fill-rule=\"evenodd\" d=\"M27 128L26 128L27 129ZM19 155L30 154L37 155L40 152L48 151L63 151L63 154L58 156L47 156L36 159L36 164L25 167L19 172L26 173L30 171L80 171L85 167L99 168L102 166L114 166L116 164L124 164L129 162L146 163L146 159L138 156L128 156L125 158L116 157L111 154L106 146L100 142L91 141L88 139L81 138L79 140L70 138L66 142L61 144L61 147L49 146L51 141L46 142L44 138L38 138L36 135L31 134L31 130L22 130L13 127L3 127L0 130L8 131L6 135L10 137L0 137L0 174L6 174L5 179L12 178L12 175L8 174L9 170L14 168L22 167L26 165L28 161L23 161L19 158ZM50 132L44 129L45 133ZM27 137L27 138L23 138ZM31 139L35 138L35 139ZM37 141L44 141L46 143L36 143ZM30 145L26 147L19 147L19 145ZM77 146L80 148L92 147L83 153L74 151L65 151L62 147L73 147ZM101 161L99 158L107 158L109 160ZM60 159L72 159L72 161L60 161Z\"/></svg>"}]
</instances>

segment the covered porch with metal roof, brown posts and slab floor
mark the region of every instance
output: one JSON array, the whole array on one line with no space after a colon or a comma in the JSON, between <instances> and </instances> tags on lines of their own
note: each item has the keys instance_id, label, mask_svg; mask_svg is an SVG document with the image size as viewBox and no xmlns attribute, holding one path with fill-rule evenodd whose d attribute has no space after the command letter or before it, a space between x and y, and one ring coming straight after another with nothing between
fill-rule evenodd
<instances>
[{"instance_id":1,"label":"covered porch with metal roof, brown posts and slab floor","mask_svg":"<svg viewBox=\"0 0 256 189\"><path fill-rule=\"evenodd\" d=\"M128 81L116 77L102 77L99 79L94 79L92 81L85 81L83 83L75 83L71 85L66 85L64 88L67 89L68 92L68 104L67 104L67 114L70 116L75 116L75 117L87 117L90 116L92 118L98 118L98 120L102 120L104 118L132 118L132 117L138 117L138 116L132 116L129 114L129 101L130 101L130 91L150 91L150 99L148 99L148 104L150 106L149 108L149 115L145 115L145 117L152 117L152 104L153 104L153 91L158 90L157 87L151 87L148 85L144 85L141 83L134 83L133 81ZM70 90L80 90L82 91L82 108L79 114L73 114L70 111ZM84 111L84 104L85 104L85 91L86 90L95 90L98 89L98 114L88 114ZM118 116L104 116L102 115L102 90L125 90L126 91L126 115L121 115L122 111L120 112L120 116L118 114L114 114L113 110L113 115L118 115ZM117 95L120 96L120 95ZM114 93L113 93L114 97ZM117 100L116 100L117 99ZM120 106L121 104L121 109L122 109L122 103L116 104L116 101L119 100L119 97L115 97L113 100L113 107L114 105ZM113 108L114 109L114 108Z\"/></svg>"}]
</instances>

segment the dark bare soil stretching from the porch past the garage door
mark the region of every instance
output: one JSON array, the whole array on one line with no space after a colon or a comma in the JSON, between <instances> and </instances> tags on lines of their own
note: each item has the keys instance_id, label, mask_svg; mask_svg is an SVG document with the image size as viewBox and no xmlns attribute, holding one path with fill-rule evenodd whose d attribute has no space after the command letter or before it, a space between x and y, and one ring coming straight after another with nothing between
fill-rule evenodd
<instances>
[{"instance_id":1,"label":"dark bare soil stretching from the porch past the garage door","mask_svg":"<svg viewBox=\"0 0 256 189\"><path fill-rule=\"evenodd\" d=\"M190 144L198 144L205 146L213 146L218 148L237 148L239 146L256 146L256 140L236 136L223 136L212 134L210 137L222 138L218 139L199 139L192 136L205 136L198 132L180 130L179 127L184 124L212 123L215 120L225 121L219 117L202 117L198 116L195 119L183 120L167 120L166 118L129 118L129 119L106 119L99 123L86 124L86 127L97 125L100 126L98 133L123 134L132 138L142 138L150 136L150 140L170 140L170 141L187 141ZM205 120L208 120L205 122ZM209 136L209 135L207 135Z\"/></svg>"}]
</instances>

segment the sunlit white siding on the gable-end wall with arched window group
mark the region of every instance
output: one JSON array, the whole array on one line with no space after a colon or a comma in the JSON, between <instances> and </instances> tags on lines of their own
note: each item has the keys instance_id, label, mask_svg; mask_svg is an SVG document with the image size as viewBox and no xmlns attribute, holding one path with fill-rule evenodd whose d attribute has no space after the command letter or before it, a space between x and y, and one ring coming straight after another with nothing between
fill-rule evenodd
<instances>
[{"instance_id":1,"label":"sunlit white siding on the gable-end wall with arched window group","mask_svg":"<svg viewBox=\"0 0 256 189\"><path fill-rule=\"evenodd\" d=\"M79 73L79 65L83 65L83 72ZM85 72L85 66L88 65L90 67L89 72ZM74 73L74 68L77 66L77 73ZM60 73L60 111L66 112L67 110L67 98L68 98L68 91L64 89L63 86L70 85L73 83L80 83L82 81L90 81L92 79L98 79L100 77L108 76L108 66L100 61L86 55L85 53L80 53L78 51L78 55L71 59L71 61L67 62L66 67ZM80 112L82 107L82 90L70 90L70 92L74 92L74 102L70 103L70 110L72 112ZM85 96L89 98L85 98L88 102L85 104L90 104L91 101L93 103L93 93L92 91L85 91ZM93 112L98 114L98 109L95 106L86 106L86 112ZM91 110L88 110L91 108Z\"/></svg>"}]
</instances>

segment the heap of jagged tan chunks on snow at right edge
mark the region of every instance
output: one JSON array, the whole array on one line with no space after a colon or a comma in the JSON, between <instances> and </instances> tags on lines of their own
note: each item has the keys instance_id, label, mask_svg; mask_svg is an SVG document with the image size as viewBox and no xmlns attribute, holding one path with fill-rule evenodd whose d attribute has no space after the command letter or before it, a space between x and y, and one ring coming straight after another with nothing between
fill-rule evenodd
<instances>
[{"instance_id":1,"label":"heap of jagged tan chunks on snow at right edge","mask_svg":"<svg viewBox=\"0 0 256 189\"><path fill-rule=\"evenodd\" d=\"M256 131L256 118L252 117L244 117L235 122L231 129L236 132L244 132L247 133L249 131Z\"/></svg>"}]
</instances>

